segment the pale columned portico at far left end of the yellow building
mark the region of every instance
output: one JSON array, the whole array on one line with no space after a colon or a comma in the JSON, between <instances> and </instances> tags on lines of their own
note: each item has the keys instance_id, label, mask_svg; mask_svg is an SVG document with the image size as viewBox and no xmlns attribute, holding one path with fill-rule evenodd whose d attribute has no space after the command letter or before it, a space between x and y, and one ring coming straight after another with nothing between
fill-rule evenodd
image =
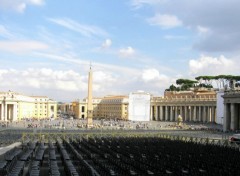
<instances>
[{"instance_id":1,"label":"pale columned portico at far left end of the yellow building","mask_svg":"<svg viewBox=\"0 0 240 176\"><path fill-rule=\"evenodd\" d=\"M8 104L2 102L0 104L0 120L1 121L14 121L17 119L17 105L15 103Z\"/></svg>"}]
</instances>

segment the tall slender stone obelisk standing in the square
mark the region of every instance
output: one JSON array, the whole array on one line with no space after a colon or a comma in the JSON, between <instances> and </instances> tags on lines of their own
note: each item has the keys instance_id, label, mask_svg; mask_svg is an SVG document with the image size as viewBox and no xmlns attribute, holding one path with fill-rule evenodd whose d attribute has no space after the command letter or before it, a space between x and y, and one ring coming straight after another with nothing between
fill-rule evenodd
<instances>
[{"instance_id":1,"label":"tall slender stone obelisk standing in the square","mask_svg":"<svg viewBox=\"0 0 240 176\"><path fill-rule=\"evenodd\" d=\"M92 68L90 65L90 70L88 74L88 106L87 106L87 126L93 125L93 105L92 105Z\"/></svg>"}]
</instances>

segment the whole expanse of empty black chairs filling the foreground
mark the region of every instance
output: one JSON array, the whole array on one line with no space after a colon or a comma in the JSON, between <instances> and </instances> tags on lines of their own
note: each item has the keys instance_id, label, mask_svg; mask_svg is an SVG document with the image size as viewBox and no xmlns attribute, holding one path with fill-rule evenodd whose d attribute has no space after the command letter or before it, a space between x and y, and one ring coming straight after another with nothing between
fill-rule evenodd
<instances>
[{"instance_id":1,"label":"whole expanse of empty black chairs filling the foreground","mask_svg":"<svg viewBox=\"0 0 240 176\"><path fill-rule=\"evenodd\" d=\"M28 143L22 150L6 154L0 162L0 175L21 175L28 161L29 175L34 176L40 174L40 168L57 176L61 172L76 176L240 175L240 152L233 148L157 137L88 137L46 146L43 142Z\"/></svg>"}]
</instances>

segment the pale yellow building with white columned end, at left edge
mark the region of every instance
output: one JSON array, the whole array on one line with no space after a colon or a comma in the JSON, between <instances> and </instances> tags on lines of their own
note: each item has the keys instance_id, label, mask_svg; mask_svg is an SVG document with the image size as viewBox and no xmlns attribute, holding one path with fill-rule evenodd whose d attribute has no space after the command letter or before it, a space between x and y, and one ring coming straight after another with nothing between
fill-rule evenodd
<instances>
[{"instance_id":1,"label":"pale yellow building with white columned end, at left edge","mask_svg":"<svg viewBox=\"0 0 240 176\"><path fill-rule=\"evenodd\" d=\"M24 118L56 118L57 102L46 96L25 96L16 92L0 92L0 120Z\"/></svg>"}]
</instances>

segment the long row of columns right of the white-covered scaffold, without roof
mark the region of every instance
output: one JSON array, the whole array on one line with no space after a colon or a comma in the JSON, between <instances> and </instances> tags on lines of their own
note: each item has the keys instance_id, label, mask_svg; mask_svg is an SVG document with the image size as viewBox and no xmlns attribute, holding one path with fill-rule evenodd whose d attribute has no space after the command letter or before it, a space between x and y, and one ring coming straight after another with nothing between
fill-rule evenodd
<instances>
[{"instance_id":1,"label":"long row of columns right of the white-covered scaffold, without roof","mask_svg":"<svg viewBox=\"0 0 240 176\"><path fill-rule=\"evenodd\" d=\"M177 121L181 115L183 121L188 122L215 122L216 105L152 105L151 120Z\"/></svg>"}]
</instances>

